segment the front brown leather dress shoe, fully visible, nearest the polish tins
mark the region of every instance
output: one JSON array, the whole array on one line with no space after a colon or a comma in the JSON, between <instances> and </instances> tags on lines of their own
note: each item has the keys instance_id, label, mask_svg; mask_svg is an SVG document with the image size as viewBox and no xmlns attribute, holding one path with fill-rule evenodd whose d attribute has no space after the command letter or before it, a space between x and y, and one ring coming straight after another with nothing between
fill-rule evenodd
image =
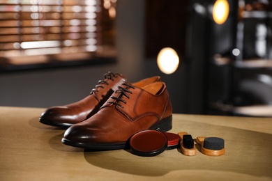
<instances>
[{"instance_id":1,"label":"front brown leather dress shoe, fully visible, nearest the polish tins","mask_svg":"<svg viewBox=\"0 0 272 181\"><path fill-rule=\"evenodd\" d=\"M145 129L172 129L172 104L161 81L142 88L124 82L98 113L69 127L61 141L91 150L123 149L130 136Z\"/></svg>"}]
</instances>

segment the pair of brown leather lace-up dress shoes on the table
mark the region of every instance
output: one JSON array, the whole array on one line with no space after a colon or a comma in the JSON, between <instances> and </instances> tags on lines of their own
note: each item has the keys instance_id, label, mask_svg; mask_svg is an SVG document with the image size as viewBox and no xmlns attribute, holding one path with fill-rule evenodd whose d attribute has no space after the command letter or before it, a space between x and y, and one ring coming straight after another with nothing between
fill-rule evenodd
<instances>
[{"instance_id":1,"label":"pair of brown leather lace-up dress shoes on the table","mask_svg":"<svg viewBox=\"0 0 272 181\"><path fill-rule=\"evenodd\" d=\"M51 107L40 123L69 127L61 140L91 150L126 147L145 129L172 129L172 104L165 83L150 77L130 84L122 74L105 74L90 95L63 107Z\"/></svg>"}]
</instances>

